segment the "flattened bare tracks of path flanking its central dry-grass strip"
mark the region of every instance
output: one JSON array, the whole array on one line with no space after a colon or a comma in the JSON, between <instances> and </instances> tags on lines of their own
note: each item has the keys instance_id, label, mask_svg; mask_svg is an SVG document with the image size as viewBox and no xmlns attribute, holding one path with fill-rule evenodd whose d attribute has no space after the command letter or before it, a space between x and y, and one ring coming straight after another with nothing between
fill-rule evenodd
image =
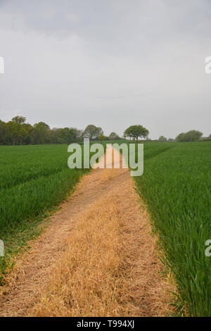
<instances>
[{"instance_id":1,"label":"flattened bare tracks of path flanking its central dry-grass strip","mask_svg":"<svg viewBox=\"0 0 211 331\"><path fill-rule=\"evenodd\" d=\"M31 243L30 251L13 268L8 285L0 290L0 316L42 315L40 308L34 311L34 307L39 306L56 263L68 250L68 238L77 230L84 212L101 208L105 199L108 206L115 208L115 218L120 223L119 238L130 254L124 256L122 268L127 277L127 312L124 313L122 304L120 313L126 316L167 314L168 285L160 275L162 266L156 255L155 238L150 234L148 216L141 208L129 170L97 169L82 178L75 193L51 217L49 227ZM89 312L89 316L94 314L100 316L101 313ZM109 314L115 316L114 310ZM53 316L53 312L44 316Z\"/></svg>"}]
</instances>

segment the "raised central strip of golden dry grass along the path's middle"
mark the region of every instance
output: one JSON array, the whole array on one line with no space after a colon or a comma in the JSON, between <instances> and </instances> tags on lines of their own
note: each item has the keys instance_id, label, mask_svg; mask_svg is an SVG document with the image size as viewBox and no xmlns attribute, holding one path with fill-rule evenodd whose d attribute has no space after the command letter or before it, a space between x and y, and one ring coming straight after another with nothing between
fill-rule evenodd
<instances>
[{"instance_id":1,"label":"raised central strip of golden dry grass along the path's middle","mask_svg":"<svg viewBox=\"0 0 211 331\"><path fill-rule=\"evenodd\" d=\"M114 196L84 212L32 316L123 316L125 249Z\"/></svg>"}]
</instances>

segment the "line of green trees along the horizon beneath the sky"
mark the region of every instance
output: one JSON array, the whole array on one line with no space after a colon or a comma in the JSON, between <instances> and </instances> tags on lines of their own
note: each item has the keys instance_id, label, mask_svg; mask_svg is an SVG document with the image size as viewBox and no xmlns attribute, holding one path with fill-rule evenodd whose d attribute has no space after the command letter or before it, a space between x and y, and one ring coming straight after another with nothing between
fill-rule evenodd
<instances>
[{"instance_id":1,"label":"line of green trees along the horizon beneath the sky","mask_svg":"<svg viewBox=\"0 0 211 331\"><path fill-rule=\"evenodd\" d=\"M115 132L111 132L107 137L101 127L87 125L85 130L78 130L75 127L53 128L44 122L31 125L26 123L23 116L15 116L8 122L0 120L0 144L70 144L71 142L82 142L87 137L90 140L115 140L129 138L138 141L139 138L147 139L149 131L142 125L131 125L124 131L123 137L119 137ZM181 132L176 139L167 139L160 136L157 141L166 142L195 142L202 139L203 133L197 130ZM211 135L203 140L211 140Z\"/></svg>"}]
</instances>

